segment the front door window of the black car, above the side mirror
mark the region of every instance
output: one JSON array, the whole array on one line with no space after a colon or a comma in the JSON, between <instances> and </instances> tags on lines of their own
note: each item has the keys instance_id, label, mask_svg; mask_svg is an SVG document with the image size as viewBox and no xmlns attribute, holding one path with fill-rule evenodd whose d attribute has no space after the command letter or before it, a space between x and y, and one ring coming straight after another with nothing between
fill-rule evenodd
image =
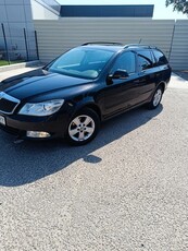
<instances>
[{"instance_id":1,"label":"front door window of the black car, above the side mirror","mask_svg":"<svg viewBox=\"0 0 188 251\"><path fill-rule=\"evenodd\" d=\"M123 55L121 55L113 68L112 68L112 72L115 72L117 70L124 70L127 71L127 73L134 73L135 72L135 53L131 51L127 51Z\"/></svg>"}]
</instances>

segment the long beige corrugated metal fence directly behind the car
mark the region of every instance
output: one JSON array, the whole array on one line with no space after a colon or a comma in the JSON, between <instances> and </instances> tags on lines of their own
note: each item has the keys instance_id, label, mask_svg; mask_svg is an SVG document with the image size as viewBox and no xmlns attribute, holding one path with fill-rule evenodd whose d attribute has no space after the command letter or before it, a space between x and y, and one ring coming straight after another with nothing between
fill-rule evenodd
<instances>
[{"instance_id":1,"label":"long beige corrugated metal fence directly behind the car","mask_svg":"<svg viewBox=\"0 0 188 251\"><path fill-rule=\"evenodd\" d=\"M63 17L35 20L40 61L86 41L120 41L153 45L162 49L174 70L188 69L188 20L127 17Z\"/></svg>"}]
</instances>

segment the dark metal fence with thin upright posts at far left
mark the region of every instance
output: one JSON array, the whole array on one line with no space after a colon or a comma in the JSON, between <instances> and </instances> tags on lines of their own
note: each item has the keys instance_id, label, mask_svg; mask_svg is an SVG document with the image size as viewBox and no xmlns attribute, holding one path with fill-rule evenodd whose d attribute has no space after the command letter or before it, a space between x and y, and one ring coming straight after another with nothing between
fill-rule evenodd
<instances>
[{"instance_id":1,"label":"dark metal fence with thin upright posts at far left","mask_svg":"<svg viewBox=\"0 0 188 251\"><path fill-rule=\"evenodd\" d=\"M35 31L0 25L0 65L38 59Z\"/></svg>"}]
</instances>

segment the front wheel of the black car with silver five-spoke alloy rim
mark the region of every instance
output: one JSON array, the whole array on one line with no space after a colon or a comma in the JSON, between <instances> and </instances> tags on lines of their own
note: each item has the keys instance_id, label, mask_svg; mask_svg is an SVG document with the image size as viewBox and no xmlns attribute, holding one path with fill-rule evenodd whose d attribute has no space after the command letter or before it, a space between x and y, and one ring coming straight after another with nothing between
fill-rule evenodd
<instances>
[{"instance_id":1,"label":"front wheel of the black car with silver five-spoke alloy rim","mask_svg":"<svg viewBox=\"0 0 188 251\"><path fill-rule=\"evenodd\" d=\"M100 119L96 111L84 108L70 121L66 140L71 145L85 145L92 141L100 129Z\"/></svg>"}]
</instances>

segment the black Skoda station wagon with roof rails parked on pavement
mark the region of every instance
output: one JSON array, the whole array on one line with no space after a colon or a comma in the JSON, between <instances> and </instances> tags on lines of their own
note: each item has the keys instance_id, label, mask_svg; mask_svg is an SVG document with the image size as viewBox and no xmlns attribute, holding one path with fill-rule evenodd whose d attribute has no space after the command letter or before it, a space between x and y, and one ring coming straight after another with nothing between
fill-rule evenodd
<instances>
[{"instance_id":1,"label":"black Skoda station wagon with roof rails parked on pavement","mask_svg":"<svg viewBox=\"0 0 188 251\"><path fill-rule=\"evenodd\" d=\"M91 141L100 123L159 106L171 67L155 47L87 43L46 67L0 83L0 128L23 139Z\"/></svg>"}]
</instances>

